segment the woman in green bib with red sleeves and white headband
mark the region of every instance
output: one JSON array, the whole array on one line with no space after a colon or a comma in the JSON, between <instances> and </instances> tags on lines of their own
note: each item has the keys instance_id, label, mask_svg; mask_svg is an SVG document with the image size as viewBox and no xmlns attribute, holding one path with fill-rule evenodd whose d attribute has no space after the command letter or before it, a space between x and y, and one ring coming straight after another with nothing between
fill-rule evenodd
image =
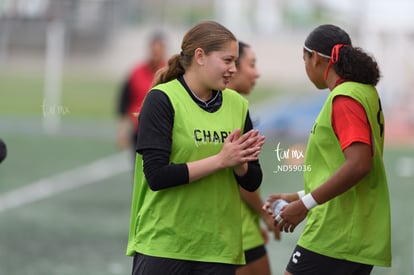
<instances>
[{"instance_id":1,"label":"woman in green bib with red sleeves and white headband","mask_svg":"<svg viewBox=\"0 0 414 275\"><path fill-rule=\"evenodd\" d=\"M309 34L303 59L310 81L330 90L308 140L305 189L272 195L264 208L278 198L290 202L275 217L285 232L307 219L286 275L371 274L391 265L380 72L334 25Z\"/></svg>"}]
</instances>

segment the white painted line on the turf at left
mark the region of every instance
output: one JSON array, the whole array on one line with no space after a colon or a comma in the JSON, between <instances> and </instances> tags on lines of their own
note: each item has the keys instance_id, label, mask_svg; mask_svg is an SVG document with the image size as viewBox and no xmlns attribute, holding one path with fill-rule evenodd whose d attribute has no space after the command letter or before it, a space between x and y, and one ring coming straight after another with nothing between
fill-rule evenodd
<instances>
[{"instance_id":1,"label":"white painted line on the turf at left","mask_svg":"<svg viewBox=\"0 0 414 275\"><path fill-rule=\"evenodd\" d=\"M0 212L131 170L129 154L124 151L0 194Z\"/></svg>"}]
</instances>

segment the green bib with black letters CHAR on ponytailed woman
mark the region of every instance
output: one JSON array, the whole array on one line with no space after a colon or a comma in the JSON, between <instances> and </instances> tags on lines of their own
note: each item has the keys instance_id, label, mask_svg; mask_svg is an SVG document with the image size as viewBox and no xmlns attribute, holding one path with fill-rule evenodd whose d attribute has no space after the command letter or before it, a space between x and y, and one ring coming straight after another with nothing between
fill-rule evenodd
<instances>
[{"instance_id":1,"label":"green bib with black letters CHAR on ponytailed woman","mask_svg":"<svg viewBox=\"0 0 414 275\"><path fill-rule=\"evenodd\" d=\"M154 87L174 109L171 163L200 160L220 152L224 139L244 129L248 103L232 90L222 91L214 113L200 108L178 80ZM243 264L240 193L233 169L161 191L149 189L136 156L127 255ZM165 178L168 181L168 178Z\"/></svg>"}]
</instances>

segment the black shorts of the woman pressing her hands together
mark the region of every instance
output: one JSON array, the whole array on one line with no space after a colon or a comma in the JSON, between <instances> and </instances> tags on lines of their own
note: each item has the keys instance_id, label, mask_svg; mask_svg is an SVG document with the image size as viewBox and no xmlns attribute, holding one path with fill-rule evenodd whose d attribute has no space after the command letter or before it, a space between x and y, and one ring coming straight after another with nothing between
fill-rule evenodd
<instances>
[{"instance_id":1,"label":"black shorts of the woman pressing her hands together","mask_svg":"<svg viewBox=\"0 0 414 275\"><path fill-rule=\"evenodd\" d=\"M132 275L234 275L236 265L134 255Z\"/></svg>"}]
</instances>

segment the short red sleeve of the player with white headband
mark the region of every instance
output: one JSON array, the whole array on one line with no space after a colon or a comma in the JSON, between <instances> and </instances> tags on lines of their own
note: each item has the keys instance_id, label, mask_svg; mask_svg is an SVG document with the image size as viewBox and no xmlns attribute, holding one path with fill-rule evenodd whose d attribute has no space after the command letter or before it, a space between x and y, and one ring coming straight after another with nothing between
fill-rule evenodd
<instances>
[{"instance_id":1,"label":"short red sleeve of the player with white headband","mask_svg":"<svg viewBox=\"0 0 414 275\"><path fill-rule=\"evenodd\" d=\"M332 127L342 151L354 142L368 144L372 151L371 127L364 107L348 96L337 96L332 103Z\"/></svg>"}]
</instances>

